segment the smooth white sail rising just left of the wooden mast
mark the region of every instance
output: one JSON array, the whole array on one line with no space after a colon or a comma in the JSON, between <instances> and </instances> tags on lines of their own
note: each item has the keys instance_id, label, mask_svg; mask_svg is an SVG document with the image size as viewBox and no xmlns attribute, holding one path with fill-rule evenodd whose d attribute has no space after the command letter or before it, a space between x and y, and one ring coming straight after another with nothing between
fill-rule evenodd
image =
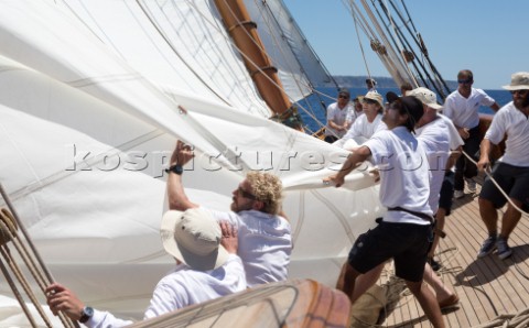
<instances>
[{"instance_id":1,"label":"smooth white sail rising just left of the wooden mast","mask_svg":"<svg viewBox=\"0 0 529 328\"><path fill-rule=\"evenodd\" d=\"M260 99L213 1L64 1L109 48L171 92L193 92L261 117Z\"/></svg>"}]
</instances>

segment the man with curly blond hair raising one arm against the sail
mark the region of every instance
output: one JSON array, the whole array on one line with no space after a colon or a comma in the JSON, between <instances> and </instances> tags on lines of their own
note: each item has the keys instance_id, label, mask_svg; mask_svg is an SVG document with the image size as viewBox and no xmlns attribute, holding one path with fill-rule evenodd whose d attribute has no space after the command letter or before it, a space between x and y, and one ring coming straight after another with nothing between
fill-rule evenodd
<instances>
[{"instance_id":1,"label":"man with curly blond hair raising one arm against the sail","mask_svg":"<svg viewBox=\"0 0 529 328\"><path fill-rule=\"evenodd\" d=\"M191 146L179 141L168 170L170 209L201 207L187 198L182 184L182 166L191 158ZM270 173L249 172L231 195L231 211L210 212L217 221L237 227L237 253L245 265L248 287L287 280L292 237L282 211L281 179Z\"/></svg>"}]
</instances>

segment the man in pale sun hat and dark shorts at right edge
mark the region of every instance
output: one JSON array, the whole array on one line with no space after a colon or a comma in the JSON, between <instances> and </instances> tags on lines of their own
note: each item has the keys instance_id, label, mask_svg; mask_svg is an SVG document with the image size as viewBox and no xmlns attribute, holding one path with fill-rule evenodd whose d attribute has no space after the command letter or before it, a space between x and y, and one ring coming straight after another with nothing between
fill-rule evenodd
<instances>
[{"instance_id":1,"label":"man in pale sun hat and dark shorts at right edge","mask_svg":"<svg viewBox=\"0 0 529 328\"><path fill-rule=\"evenodd\" d=\"M490 128L483 139L477 163L478 170L488 168L490 144L498 144L507 135L504 156L496 162L492 173L493 178L509 196L499 234L497 234L497 209L504 207L507 199L489 177L485 179L479 194L479 214L487 228L488 238L477 256L486 256L497 249L498 258L501 260L512 254L507 241L521 217L512 204L525 211L529 210L529 73L512 74L510 85L504 88L510 90L512 101L494 116Z\"/></svg>"}]
</instances>

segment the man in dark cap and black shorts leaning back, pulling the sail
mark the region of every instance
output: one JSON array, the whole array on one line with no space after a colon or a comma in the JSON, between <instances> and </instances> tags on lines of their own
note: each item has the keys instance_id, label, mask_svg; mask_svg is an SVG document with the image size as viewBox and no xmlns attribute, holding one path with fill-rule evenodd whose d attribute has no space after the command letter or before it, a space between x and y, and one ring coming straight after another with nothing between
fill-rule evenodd
<instances>
[{"instance_id":1,"label":"man in dark cap and black shorts leaning back, pulling the sail","mask_svg":"<svg viewBox=\"0 0 529 328\"><path fill-rule=\"evenodd\" d=\"M411 134L422 113L422 103L414 97L392 101L382 118L388 130L375 133L353 151L342 170L325 181L341 187L345 176L370 157L380 173L380 201L388 208L380 223L355 241L344 271L343 292L352 297L360 274L392 258L396 275L406 281L429 320L434 327L444 327L435 296L422 284L433 240L427 154Z\"/></svg>"}]
</instances>

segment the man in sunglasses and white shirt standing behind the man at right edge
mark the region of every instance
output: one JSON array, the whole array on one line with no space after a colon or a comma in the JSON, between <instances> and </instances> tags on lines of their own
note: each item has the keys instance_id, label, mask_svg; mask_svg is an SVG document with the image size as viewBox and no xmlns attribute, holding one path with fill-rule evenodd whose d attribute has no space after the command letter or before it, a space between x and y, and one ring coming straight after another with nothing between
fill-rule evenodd
<instances>
[{"instance_id":1,"label":"man in sunglasses and white shirt standing behind the man at right edge","mask_svg":"<svg viewBox=\"0 0 529 328\"><path fill-rule=\"evenodd\" d=\"M471 157L476 156L479 150L479 106L488 106L494 111L499 109L498 103L485 94L482 89L472 87L474 84L474 75L469 69L460 70L457 74L457 90L446 97L443 107L443 114L452 120L461 138L465 141L463 151ZM474 177L477 175L477 167L466 156L460 156L455 164L454 176L454 197L464 196L463 189L465 178L468 190L476 192L476 182Z\"/></svg>"}]
</instances>

